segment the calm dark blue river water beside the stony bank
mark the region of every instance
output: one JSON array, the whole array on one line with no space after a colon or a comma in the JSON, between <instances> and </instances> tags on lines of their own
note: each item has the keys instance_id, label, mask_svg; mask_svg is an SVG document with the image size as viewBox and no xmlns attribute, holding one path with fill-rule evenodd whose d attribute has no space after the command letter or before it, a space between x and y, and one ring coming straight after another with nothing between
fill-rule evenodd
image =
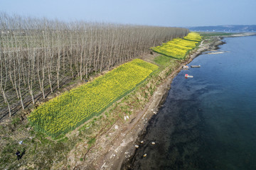
<instances>
[{"instance_id":1,"label":"calm dark blue river water beside the stony bank","mask_svg":"<svg viewBox=\"0 0 256 170\"><path fill-rule=\"evenodd\" d=\"M223 40L174 78L131 169L256 169L256 36Z\"/></svg>"}]
</instances>

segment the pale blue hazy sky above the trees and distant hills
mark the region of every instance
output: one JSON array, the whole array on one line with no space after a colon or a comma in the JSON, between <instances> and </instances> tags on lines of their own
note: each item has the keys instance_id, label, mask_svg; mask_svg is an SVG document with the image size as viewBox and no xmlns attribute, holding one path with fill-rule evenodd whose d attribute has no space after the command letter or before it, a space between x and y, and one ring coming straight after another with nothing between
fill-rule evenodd
<instances>
[{"instance_id":1,"label":"pale blue hazy sky above the trees and distant hills","mask_svg":"<svg viewBox=\"0 0 256 170\"><path fill-rule=\"evenodd\" d=\"M0 11L150 26L256 25L256 0L0 0Z\"/></svg>"}]
</instances>

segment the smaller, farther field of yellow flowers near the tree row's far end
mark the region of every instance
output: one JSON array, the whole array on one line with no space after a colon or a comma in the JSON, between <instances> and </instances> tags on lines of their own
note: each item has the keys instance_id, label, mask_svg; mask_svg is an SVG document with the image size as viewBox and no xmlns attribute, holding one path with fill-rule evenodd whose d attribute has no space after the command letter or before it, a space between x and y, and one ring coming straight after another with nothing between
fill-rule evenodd
<instances>
[{"instance_id":1,"label":"smaller, farther field of yellow flowers near the tree row's far end","mask_svg":"<svg viewBox=\"0 0 256 170\"><path fill-rule=\"evenodd\" d=\"M158 52L161 55L183 59L200 41L200 34L188 33L183 39L175 38L174 40L163 43L161 46L154 47L153 51Z\"/></svg>"}]
</instances>

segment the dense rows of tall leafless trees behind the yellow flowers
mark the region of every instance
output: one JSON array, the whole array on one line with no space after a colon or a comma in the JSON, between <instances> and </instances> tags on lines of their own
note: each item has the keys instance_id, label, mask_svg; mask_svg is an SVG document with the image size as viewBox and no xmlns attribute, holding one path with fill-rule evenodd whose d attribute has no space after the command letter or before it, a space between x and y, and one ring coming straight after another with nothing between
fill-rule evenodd
<instances>
[{"instance_id":1,"label":"dense rows of tall leafless trees behind the yellow flowers","mask_svg":"<svg viewBox=\"0 0 256 170\"><path fill-rule=\"evenodd\" d=\"M188 34L186 28L65 23L6 13L0 14L0 30L0 112L9 116L14 103L23 109L24 98L35 104L36 95L46 98L66 77L87 79Z\"/></svg>"}]
</instances>

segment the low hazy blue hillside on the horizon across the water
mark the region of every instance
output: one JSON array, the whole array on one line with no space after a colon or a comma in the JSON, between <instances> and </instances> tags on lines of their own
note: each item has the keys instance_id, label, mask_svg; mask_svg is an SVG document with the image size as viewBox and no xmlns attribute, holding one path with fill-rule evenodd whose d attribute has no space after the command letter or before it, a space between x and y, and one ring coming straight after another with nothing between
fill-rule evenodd
<instances>
[{"instance_id":1,"label":"low hazy blue hillside on the horizon across the water","mask_svg":"<svg viewBox=\"0 0 256 170\"><path fill-rule=\"evenodd\" d=\"M191 31L256 32L256 25L198 26L188 27Z\"/></svg>"}]
</instances>

